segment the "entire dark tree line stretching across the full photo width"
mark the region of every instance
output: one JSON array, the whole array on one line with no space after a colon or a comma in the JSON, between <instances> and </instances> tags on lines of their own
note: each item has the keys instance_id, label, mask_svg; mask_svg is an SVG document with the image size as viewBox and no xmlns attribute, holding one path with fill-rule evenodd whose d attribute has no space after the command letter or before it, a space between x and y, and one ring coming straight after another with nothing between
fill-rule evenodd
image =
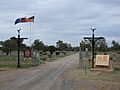
<instances>
[{"instance_id":1,"label":"entire dark tree line stretching across the full photo width","mask_svg":"<svg viewBox=\"0 0 120 90\"><path fill-rule=\"evenodd\" d=\"M120 52L120 43L113 40L111 42L112 46L108 47L106 40L98 40L95 43L95 50L96 51L119 51ZM31 50L30 46L27 46L23 43L23 40L20 41L20 49L21 51ZM80 46L83 51L87 48L89 51L91 51L91 42L82 40L80 42ZM32 48L37 51L50 51L52 54L54 51L79 51L79 46L72 47L70 43L63 42L62 40L58 40L55 45L45 45L43 41L40 39L34 40L32 43ZM5 41L0 41L0 50L5 52L7 55L10 54L12 51L17 50L17 39L16 37L11 37L10 39L7 39Z\"/></svg>"}]
</instances>

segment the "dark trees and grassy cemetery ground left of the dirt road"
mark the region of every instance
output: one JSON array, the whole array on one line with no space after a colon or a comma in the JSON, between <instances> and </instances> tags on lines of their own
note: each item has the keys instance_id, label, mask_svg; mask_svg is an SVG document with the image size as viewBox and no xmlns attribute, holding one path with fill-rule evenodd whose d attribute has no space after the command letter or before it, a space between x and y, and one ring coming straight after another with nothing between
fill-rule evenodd
<instances>
[{"instance_id":1,"label":"dark trees and grassy cemetery ground left of the dirt road","mask_svg":"<svg viewBox=\"0 0 120 90\"><path fill-rule=\"evenodd\" d=\"M0 70L17 68L17 39L11 37L0 42ZM54 45L45 45L39 39L34 40L32 46L26 46L23 40L20 41L20 68L29 68L52 62L59 58L71 55L79 51L79 47L72 47L69 43L61 40Z\"/></svg>"}]
</instances>

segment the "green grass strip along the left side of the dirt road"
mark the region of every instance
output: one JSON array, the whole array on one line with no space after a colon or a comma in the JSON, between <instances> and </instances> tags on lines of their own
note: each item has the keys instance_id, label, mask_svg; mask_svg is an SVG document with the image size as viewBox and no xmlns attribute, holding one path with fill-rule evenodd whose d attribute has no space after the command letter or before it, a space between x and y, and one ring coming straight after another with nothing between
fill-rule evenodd
<instances>
[{"instance_id":1,"label":"green grass strip along the left side of the dirt road","mask_svg":"<svg viewBox=\"0 0 120 90\"><path fill-rule=\"evenodd\" d=\"M51 57L47 55L40 55L34 61L30 58L20 57L20 68L30 68L43 64L45 62L52 62L58 60L59 58L73 54L74 52L67 52L66 55L52 55ZM17 68L17 56L0 56L0 69L16 69Z\"/></svg>"}]
</instances>

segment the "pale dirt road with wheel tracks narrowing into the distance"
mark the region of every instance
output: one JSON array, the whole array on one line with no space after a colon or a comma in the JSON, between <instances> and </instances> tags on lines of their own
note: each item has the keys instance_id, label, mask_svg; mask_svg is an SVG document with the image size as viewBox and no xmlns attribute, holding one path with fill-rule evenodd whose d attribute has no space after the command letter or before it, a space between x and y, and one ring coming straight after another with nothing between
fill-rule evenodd
<instances>
[{"instance_id":1,"label":"pale dirt road with wheel tracks narrowing into the distance","mask_svg":"<svg viewBox=\"0 0 120 90\"><path fill-rule=\"evenodd\" d=\"M76 60L78 54L73 54L30 69L0 72L0 90L59 90L62 87L56 80L62 79L62 73Z\"/></svg>"}]
</instances>

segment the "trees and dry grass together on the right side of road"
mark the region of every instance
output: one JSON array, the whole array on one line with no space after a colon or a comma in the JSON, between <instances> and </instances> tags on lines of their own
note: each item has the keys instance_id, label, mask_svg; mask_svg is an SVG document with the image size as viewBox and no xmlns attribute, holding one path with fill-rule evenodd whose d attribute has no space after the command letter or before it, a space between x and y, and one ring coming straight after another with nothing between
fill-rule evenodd
<instances>
[{"instance_id":1,"label":"trees and dry grass together on the right side of road","mask_svg":"<svg viewBox=\"0 0 120 90\"><path fill-rule=\"evenodd\" d=\"M112 60L113 71L91 71L92 64L92 51L90 48L90 43L82 41L82 66L79 66L79 62L76 63L72 68L66 73L66 77L70 80L102 80L111 82L120 82L120 43L115 40L112 41L112 46L108 47L105 41L96 43L95 53L110 55L110 60ZM87 48L87 50L86 50ZM80 64L81 65L81 64ZM80 67L80 68L79 68Z\"/></svg>"}]
</instances>

